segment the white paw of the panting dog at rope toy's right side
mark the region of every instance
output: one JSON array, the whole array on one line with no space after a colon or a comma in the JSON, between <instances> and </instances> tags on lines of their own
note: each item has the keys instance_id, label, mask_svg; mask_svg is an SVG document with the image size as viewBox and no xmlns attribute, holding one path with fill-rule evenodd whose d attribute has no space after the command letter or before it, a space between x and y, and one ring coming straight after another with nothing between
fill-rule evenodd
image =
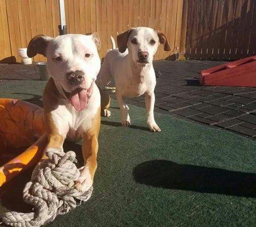
<instances>
[{"instance_id":1,"label":"white paw of the panting dog at rope toy's right side","mask_svg":"<svg viewBox=\"0 0 256 227\"><path fill-rule=\"evenodd\" d=\"M80 169L80 176L77 179L75 188L80 192L88 191L93 185L92 176L90 175L89 167L83 166Z\"/></svg>"}]
</instances>

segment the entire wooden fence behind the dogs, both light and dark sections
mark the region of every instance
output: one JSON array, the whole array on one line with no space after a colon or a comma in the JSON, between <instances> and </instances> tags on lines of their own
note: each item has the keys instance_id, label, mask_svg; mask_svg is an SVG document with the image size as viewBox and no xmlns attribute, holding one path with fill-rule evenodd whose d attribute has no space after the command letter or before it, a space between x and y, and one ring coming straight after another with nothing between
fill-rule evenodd
<instances>
[{"instance_id":1,"label":"entire wooden fence behind the dogs, both light and dark sections","mask_svg":"<svg viewBox=\"0 0 256 227\"><path fill-rule=\"evenodd\" d=\"M174 52L197 60L235 60L255 54L256 0L65 0L69 33L97 31L101 57L131 27L166 33L174 51L160 47L155 59ZM57 36L57 0L0 0L0 62L19 61L18 48L43 33ZM35 61L45 61L36 56Z\"/></svg>"}]
</instances>

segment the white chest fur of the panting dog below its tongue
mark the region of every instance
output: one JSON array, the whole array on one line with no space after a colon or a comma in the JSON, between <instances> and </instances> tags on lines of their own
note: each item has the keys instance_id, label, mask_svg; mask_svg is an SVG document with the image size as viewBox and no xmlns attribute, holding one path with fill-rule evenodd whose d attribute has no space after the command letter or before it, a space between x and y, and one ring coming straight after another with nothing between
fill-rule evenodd
<instances>
[{"instance_id":1,"label":"white chest fur of the panting dog below its tongue","mask_svg":"<svg viewBox=\"0 0 256 227\"><path fill-rule=\"evenodd\" d=\"M68 100L61 99L59 106L51 112L52 120L59 133L68 140L82 139L82 133L92 126L92 120L100 108L100 91L94 85L93 93L84 111L76 111Z\"/></svg>"}]
</instances>

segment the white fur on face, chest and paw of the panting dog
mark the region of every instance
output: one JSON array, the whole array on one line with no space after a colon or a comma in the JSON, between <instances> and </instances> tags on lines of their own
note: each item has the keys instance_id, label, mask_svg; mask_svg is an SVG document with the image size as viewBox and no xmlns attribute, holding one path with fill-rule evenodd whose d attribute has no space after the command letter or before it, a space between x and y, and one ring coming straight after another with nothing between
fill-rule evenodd
<instances>
[{"instance_id":1,"label":"white fur on face, chest and paw of the panting dog","mask_svg":"<svg viewBox=\"0 0 256 227\"><path fill-rule=\"evenodd\" d=\"M51 111L52 120L62 136L72 141L81 140L82 133L92 126L92 120L101 104L100 91L93 82L101 66L96 44L92 35L64 35L47 39L47 69L63 97L58 97L57 107ZM89 53L90 57L85 57L86 53ZM61 56L63 61L56 61L55 57L58 56ZM76 70L85 73L85 81L80 85L82 89L88 89L93 83L92 94L83 111L76 111L63 92L63 89L67 92L74 90L73 85L68 83L67 73ZM77 189L86 191L92 183L88 167L82 167L79 182L76 184Z\"/></svg>"}]
</instances>

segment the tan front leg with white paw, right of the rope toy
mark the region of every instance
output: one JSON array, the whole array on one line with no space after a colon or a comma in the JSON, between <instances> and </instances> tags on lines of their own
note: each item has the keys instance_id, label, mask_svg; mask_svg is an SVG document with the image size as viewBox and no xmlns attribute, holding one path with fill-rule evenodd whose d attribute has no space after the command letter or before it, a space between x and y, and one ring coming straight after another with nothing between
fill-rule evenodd
<instances>
[{"instance_id":1,"label":"tan front leg with white paw, right of the rope toy","mask_svg":"<svg viewBox=\"0 0 256 227\"><path fill-rule=\"evenodd\" d=\"M82 156L84 166L80 169L80 176L75 187L79 191L88 191L93 185L94 174L97 170L98 153L98 132L100 131L101 115L100 109L97 116L93 119L92 127L84 133L82 144Z\"/></svg>"}]
</instances>

